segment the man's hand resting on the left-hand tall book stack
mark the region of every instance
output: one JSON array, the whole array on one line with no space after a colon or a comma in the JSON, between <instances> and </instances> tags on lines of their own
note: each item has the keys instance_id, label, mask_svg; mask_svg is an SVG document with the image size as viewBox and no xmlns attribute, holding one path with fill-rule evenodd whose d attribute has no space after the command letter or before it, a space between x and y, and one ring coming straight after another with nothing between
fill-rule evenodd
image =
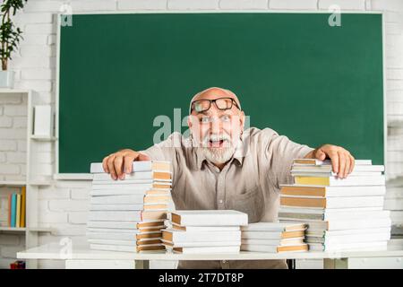
<instances>
[{"instance_id":1,"label":"man's hand resting on the left-hand tall book stack","mask_svg":"<svg viewBox=\"0 0 403 287\"><path fill-rule=\"evenodd\" d=\"M150 161L150 157L133 150L122 150L111 153L102 161L102 167L105 172L110 173L113 179L124 179L124 171L129 174L132 172L133 161Z\"/></svg>"}]
</instances>

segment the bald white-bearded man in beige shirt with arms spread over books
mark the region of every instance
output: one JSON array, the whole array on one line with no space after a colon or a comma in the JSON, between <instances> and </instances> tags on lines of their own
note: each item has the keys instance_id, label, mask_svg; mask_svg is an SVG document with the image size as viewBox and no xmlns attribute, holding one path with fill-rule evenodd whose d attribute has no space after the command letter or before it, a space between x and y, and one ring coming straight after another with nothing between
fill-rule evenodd
<instances>
[{"instance_id":1,"label":"bald white-bearded man in beige shirt with arms spread over books","mask_svg":"<svg viewBox=\"0 0 403 287\"><path fill-rule=\"evenodd\" d=\"M146 151L125 149L103 160L104 170L124 179L133 161L172 161L172 198L177 210L233 209L249 222L273 222L279 185L291 183L293 159L330 158L332 170L346 178L354 158L342 147L316 149L290 141L270 128L244 130L244 111L232 91L209 88L190 103L190 136L179 133ZM287 268L284 260L181 261L179 268Z\"/></svg>"}]
</instances>

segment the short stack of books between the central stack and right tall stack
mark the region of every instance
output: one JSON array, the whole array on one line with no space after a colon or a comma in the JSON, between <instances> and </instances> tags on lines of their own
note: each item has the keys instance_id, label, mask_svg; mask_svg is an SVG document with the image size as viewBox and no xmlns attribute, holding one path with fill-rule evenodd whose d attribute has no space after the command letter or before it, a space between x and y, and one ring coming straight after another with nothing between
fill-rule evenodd
<instances>
[{"instance_id":1,"label":"short stack of books between the central stack and right tall stack","mask_svg":"<svg viewBox=\"0 0 403 287\"><path fill-rule=\"evenodd\" d=\"M304 222L257 222L241 230L243 251L281 253L308 250L304 243Z\"/></svg>"}]
</instances>

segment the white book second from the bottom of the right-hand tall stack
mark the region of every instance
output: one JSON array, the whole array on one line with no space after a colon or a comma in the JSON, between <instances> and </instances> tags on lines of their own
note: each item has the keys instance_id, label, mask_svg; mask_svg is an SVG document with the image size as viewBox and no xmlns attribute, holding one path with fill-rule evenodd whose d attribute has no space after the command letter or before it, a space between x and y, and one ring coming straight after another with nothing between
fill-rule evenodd
<instances>
[{"instance_id":1,"label":"white book second from the bottom of the right-hand tall stack","mask_svg":"<svg viewBox=\"0 0 403 287\"><path fill-rule=\"evenodd\" d=\"M320 240L318 240L320 239ZM390 232L384 233L365 233L365 234L351 234L342 236L325 236L324 238L306 237L306 242L322 242L325 245L330 244L347 244L348 242L370 242L370 241L383 241L390 239Z\"/></svg>"}]
</instances>

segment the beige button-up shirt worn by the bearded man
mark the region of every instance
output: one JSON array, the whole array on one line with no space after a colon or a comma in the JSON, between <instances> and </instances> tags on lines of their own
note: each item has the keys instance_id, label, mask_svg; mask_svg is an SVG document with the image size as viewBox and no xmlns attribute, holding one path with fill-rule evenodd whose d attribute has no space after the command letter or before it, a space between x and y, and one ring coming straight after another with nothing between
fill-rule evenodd
<instances>
[{"instance_id":1,"label":"beige button-up shirt worn by the bearded man","mask_svg":"<svg viewBox=\"0 0 403 287\"><path fill-rule=\"evenodd\" d=\"M232 209L251 222L274 222L279 185L292 182L293 159L313 149L270 128L244 131L233 158L219 170L179 133L146 151L153 161L172 161L172 198L176 210ZM179 268L286 268L284 260L180 261Z\"/></svg>"}]
</instances>

